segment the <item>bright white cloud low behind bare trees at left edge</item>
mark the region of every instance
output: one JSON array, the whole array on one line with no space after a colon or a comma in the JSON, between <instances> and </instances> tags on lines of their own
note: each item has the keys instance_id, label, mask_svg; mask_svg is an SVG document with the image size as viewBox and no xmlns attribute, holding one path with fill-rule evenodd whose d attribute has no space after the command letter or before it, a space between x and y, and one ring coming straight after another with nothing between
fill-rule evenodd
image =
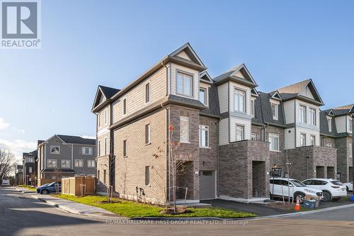
<instances>
[{"instance_id":1,"label":"bright white cloud low behind bare trees at left edge","mask_svg":"<svg viewBox=\"0 0 354 236\"><path fill-rule=\"evenodd\" d=\"M25 140L1 140L0 139L0 148L10 150L15 154L18 162L22 162L22 152L32 152L37 147L37 142L28 142Z\"/></svg>"}]
</instances>

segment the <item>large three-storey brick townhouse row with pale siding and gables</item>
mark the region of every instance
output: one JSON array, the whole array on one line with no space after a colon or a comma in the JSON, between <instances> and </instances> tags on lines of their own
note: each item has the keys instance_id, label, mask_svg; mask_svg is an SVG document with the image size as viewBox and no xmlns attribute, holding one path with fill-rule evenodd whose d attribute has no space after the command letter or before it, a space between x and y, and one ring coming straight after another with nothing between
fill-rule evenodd
<instances>
[{"instance_id":1,"label":"large three-storey brick townhouse row with pale siding and gables","mask_svg":"<svg viewBox=\"0 0 354 236\"><path fill-rule=\"evenodd\" d=\"M324 102L314 82L268 93L257 86L245 64L212 79L189 43L123 89L98 86L98 191L171 201L172 157L186 161L176 186L178 198L188 189L189 201L268 198L272 167L284 176L289 167L298 179L335 177L340 151L323 140L339 136L321 132Z\"/></svg>"}]
</instances>

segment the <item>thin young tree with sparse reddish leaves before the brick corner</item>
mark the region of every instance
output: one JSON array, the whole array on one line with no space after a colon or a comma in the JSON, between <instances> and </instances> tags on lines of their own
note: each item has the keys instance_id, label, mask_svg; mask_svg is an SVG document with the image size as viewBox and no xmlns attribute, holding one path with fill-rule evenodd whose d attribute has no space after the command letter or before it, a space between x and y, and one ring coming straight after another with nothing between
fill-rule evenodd
<instances>
[{"instance_id":1,"label":"thin young tree with sparse reddish leaves before the brick corner","mask_svg":"<svg viewBox=\"0 0 354 236\"><path fill-rule=\"evenodd\" d=\"M193 156L192 154L185 154L185 152L181 152L181 142L173 141L172 137L173 125L169 125L169 150L166 153L161 147L158 147L158 152L153 154L153 157L159 158L160 156L167 156L167 160L169 162L169 176L172 180L172 186L170 186L169 189L172 189L173 212L176 213L176 189L181 188L180 186L177 186L177 176L185 172L185 165L193 159ZM188 191L188 189L185 191Z\"/></svg>"}]
</instances>

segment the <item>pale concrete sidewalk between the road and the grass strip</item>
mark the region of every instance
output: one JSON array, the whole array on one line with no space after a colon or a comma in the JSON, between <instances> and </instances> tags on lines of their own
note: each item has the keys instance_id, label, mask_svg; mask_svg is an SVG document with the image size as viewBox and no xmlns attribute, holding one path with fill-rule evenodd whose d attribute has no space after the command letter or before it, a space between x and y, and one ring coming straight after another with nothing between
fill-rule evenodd
<instances>
[{"instance_id":1,"label":"pale concrete sidewalk between the road and the grass strip","mask_svg":"<svg viewBox=\"0 0 354 236\"><path fill-rule=\"evenodd\" d=\"M38 193L33 194L31 196L35 199L38 199L39 201L48 203L49 205L55 206L73 214L124 218L102 208L97 208L95 206L89 206L82 203L76 203L74 201L69 201L62 198L55 198L49 195L40 195Z\"/></svg>"}]
</instances>

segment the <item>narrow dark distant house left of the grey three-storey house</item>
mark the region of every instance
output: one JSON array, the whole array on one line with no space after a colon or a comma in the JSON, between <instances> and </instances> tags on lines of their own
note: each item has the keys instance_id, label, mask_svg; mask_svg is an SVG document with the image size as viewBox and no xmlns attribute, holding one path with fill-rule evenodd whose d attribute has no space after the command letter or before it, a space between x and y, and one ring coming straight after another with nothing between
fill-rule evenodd
<instances>
[{"instance_id":1,"label":"narrow dark distant house left of the grey three-storey house","mask_svg":"<svg viewBox=\"0 0 354 236\"><path fill-rule=\"evenodd\" d=\"M33 152L23 152L22 154L23 184L25 185L35 186L37 184L37 158L37 150Z\"/></svg>"}]
</instances>

